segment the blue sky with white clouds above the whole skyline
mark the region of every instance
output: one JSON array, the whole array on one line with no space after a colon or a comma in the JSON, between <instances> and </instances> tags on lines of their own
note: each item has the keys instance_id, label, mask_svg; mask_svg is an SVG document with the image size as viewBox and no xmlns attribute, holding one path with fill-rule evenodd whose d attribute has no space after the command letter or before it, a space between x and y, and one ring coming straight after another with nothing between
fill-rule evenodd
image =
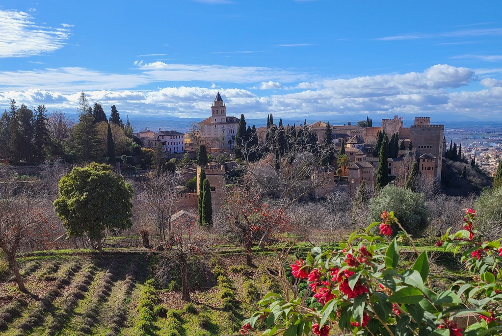
<instances>
[{"instance_id":1,"label":"blue sky with white clouds above the whole skyline","mask_svg":"<svg viewBox=\"0 0 502 336\"><path fill-rule=\"evenodd\" d=\"M131 116L502 120L502 3L178 0L0 4L0 109Z\"/></svg>"}]
</instances>

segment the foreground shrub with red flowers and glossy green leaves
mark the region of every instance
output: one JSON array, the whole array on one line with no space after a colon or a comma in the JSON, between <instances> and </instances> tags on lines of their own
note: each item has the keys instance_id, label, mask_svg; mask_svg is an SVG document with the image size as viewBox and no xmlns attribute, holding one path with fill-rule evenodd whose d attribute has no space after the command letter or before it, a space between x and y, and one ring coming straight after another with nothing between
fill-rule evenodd
<instances>
[{"instance_id":1,"label":"foreground shrub with red flowers and glossy green leaves","mask_svg":"<svg viewBox=\"0 0 502 336\"><path fill-rule=\"evenodd\" d=\"M484 241L476 229L471 209L463 229L438 241L445 249L462 251L465 267L476 274L472 283L457 281L447 290L433 289L427 252L420 253L411 237L400 231L384 247L391 226L400 227L393 212L384 212L382 222L370 224L340 242L337 250L314 247L305 260L296 261L292 274L306 279L322 307L309 308L302 297L286 301L269 293L258 303L259 310L243 322L241 333L254 330L265 320L264 335L330 334L353 335L487 335L502 333L502 262L500 240ZM401 266L397 241L407 241L417 253L413 265ZM411 266L411 267L409 267ZM478 321L465 330L456 318L476 314Z\"/></svg>"}]
</instances>

